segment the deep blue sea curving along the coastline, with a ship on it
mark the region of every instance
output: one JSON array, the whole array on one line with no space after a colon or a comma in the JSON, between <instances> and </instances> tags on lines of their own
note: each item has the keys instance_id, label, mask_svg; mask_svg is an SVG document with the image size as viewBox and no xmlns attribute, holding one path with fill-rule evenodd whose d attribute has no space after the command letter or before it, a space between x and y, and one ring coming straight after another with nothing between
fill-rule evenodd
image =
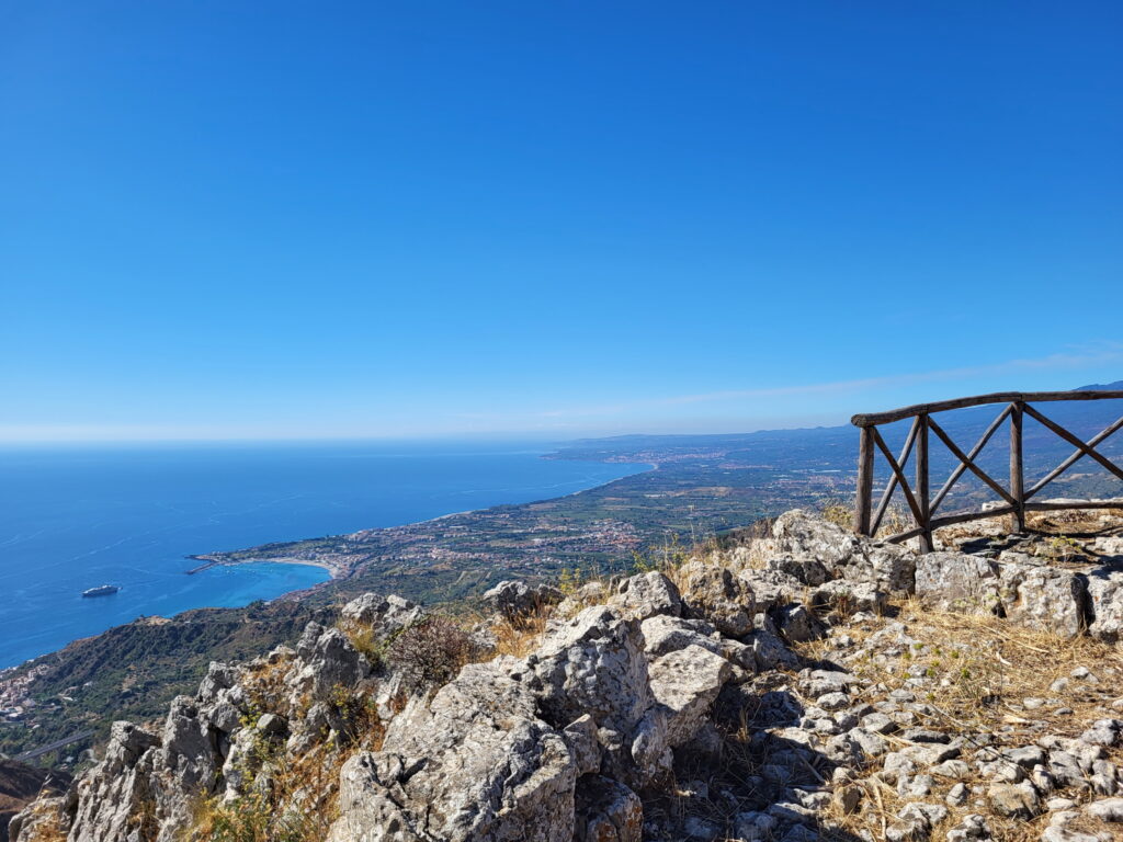
<instances>
[{"instance_id":1,"label":"deep blue sea curving along the coastline, with a ship on it","mask_svg":"<svg viewBox=\"0 0 1123 842\"><path fill-rule=\"evenodd\" d=\"M245 605L328 577L188 555L556 497L643 470L541 445L271 443L0 449L0 667L140 615ZM82 598L85 588L119 586Z\"/></svg>"}]
</instances>

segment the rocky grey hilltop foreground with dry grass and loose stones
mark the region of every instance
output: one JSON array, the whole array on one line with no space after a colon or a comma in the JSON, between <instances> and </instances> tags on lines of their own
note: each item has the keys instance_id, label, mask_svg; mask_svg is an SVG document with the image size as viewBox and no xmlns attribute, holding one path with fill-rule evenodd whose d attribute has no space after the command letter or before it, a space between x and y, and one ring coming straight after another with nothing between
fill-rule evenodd
<instances>
[{"instance_id":1,"label":"rocky grey hilltop foreground with dry grass and loose stones","mask_svg":"<svg viewBox=\"0 0 1123 842\"><path fill-rule=\"evenodd\" d=\"M472 628L367 595L115 725L12 836L1106 842L1121 523L919 555L794 511L664 570L506 583Z\"/></svg>"}]
</instances>

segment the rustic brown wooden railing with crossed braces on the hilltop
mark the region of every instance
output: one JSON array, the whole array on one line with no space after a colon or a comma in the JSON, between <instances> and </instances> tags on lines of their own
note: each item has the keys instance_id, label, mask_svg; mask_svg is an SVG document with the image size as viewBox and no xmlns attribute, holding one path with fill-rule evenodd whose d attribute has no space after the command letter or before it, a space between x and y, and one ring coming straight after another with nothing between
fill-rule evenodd
<instances>
[{"instance_id":1,"label":"rustic brown wooden railing with crossed braces on the hilltop","mask_svg":"<svg viewBox=\"0 0 1123 842\"><path fill-rule=\"evenodd\" d=\"M1120 479L1123 479L1123 468L1096 451L1097 445L1120 428L1123 428L1123 418L1120 418L1114 423L1104 428L1088 441L1083 441L1031 405L1033 403L1046 403L1049 401L1102 401L1105 399L1123 399L1123 392L999 392L990 395L959 397L953 401L941 401L939 403L922 403L916 404L915 406L905 406L900 410L893 410L891 412L855 415L850 419L850 422L861 430L861 440L858 450L858 504L855 507L855 532L861 536L877 534L877 531L882 525L882 520L885 518L886 511L888 511L889 502L893 500L893 494L897 486L901 487L905 502L909 505L909 511L912 513L913 521L915 522L915 527L904 532L889 536L885 540L900 542L910 538L919 538L921 549L925 552L931 551L932 549L932 531L952 523L965 523L967 521L979 520L982 518L996 518L1010 514L1013 515L1014 528L1021 532L1025 530L1025 513L1028 511L1119 507L1120 504L1117 502L1030 502L1038 493L1041 492L1042 488L1072 467L1072 465L1085 456L1099 463L1099 465L1108 472L1114 474ZM932 415L938 412L958 410L965 406L980 406L988 403L1001 403L1005 405L1003 406L1002 412L998 413L998 417L990 422L989 427L986 428L975 446L967 452L964 452L964 450L951 440L951 437L948 436L943 428L932 418ZM1030 488L1025 487L1024 460L1022 456L1022 421L1025 415L1035 419L1043 427L1051 430L1076 448L1071 456L1061 461L1056 468L1046 474L1046 476L1034 483ZM900 456L894 457L877 428L880 424L903 421L909 418L913 419L912 427L905 438L905 443ZM976 463L976 459L979 454L983 452L983 448L986 447L990 437L997 432L998 428L1002 427L1003 422L1007 419L1010 420L1010 482L1006 486L1003 486L984 472ZM951 472L947 482L944 482L940 489L935 493L934 497L931 496L929 484L930 432L934 433L937 438L944 443L951 455L959 460L959 464L956 466L955 470ZM889 477L889 482L886 485L885 491L882 493L880 502L875 510L874 457L877 451L880 451L882 456L885 458L885 461L892 470L892 476ZM904 469L910 455L913 452L915 452L915 477L914 483L910 485ZM989 509L987 511L950 514L937 518L935 513L944 500L947 500L948 493L967 470L970 470L992 491L994 491L1003 501L1004 505Z\"/></svg>"}]
</instances>

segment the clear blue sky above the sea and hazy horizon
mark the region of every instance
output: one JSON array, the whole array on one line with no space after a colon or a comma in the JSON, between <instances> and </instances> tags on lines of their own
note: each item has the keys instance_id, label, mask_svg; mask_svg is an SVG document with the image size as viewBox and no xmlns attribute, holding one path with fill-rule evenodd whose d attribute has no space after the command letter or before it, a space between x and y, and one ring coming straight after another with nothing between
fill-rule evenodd
<instances>
[{"instance_id":1,"label":"clear blue sky above the sea and hazy horizon","mask_svg":"<svg viewBox=\"0 0 1123 842\"><path fill-rule=\"evenodd\" d=\"M0 0L0 439L1123 378L1117 2Z\"/></svg>"}]
</instances>

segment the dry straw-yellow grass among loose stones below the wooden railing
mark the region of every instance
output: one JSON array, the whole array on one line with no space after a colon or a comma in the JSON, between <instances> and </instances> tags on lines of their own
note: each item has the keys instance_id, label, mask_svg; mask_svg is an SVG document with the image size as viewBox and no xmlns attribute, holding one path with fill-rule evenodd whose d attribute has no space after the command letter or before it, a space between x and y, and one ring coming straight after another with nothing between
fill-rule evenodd
<instances>
[{"instance_id":1,"label":"dry straw-yellow grass among loose stones below the wooden railing","mask_svg":"<svg viewBox=\"0 0 1123 842\"><path fill-rule=\"evenodd\" d=\"M919 725L943 731L951 735L971 733L1001 734L1003 743L1010 747L1028 745L1046 734L1075 738L1090 723L1111 716L1108 703L1119 695L1123 676L1123 652L1087 637L1065 639L1035 629L990 615L955 614L931 611L915 601L906 601L894 606L898 614L893 620L874 620L860 625L848 626L844 631L859 647L869 646L869 639L892 622L904 622L906 634L917 642L907 647L894 646L888 641L880 644L880 651L844 665L849 671L868 678L878 690L867 690L864 702L877 702L889 690L911 689L919 703L929 705L934 714ZM822 640L802 644L802 653L810 659L825 659L836 655L831 641ZM894 656L879 661L878 655ZM1058 678L1068 677L1077 666L1088 667L1099 675L1098 684L1070 680L1062 692L1050 690ZM923 676L928 685L923 688L909 687L910 677ZM1042 706L1026 710L1025 698L1050 699L1059 697L1062 706ZM1067 707L1071 713L1061 713ZM909 743L887 735L889 750L896 751ZM970 753L970 744L967 750ZM1120 765L1123 751L1112 750L1108 759ZM875 839L884 839L885 830L896 820L896 813L910 800L944 803L944 796L955 781L937 778L932 794L924 798L902 797L896 788L876 777L861 780L861 808L853 814L844 814L836 803L828 811L832 823L847 832L857 834L865 830ZM977 775L962 782L982 786L985 790L988 779ZM1087 794L1065 791L1066 797L1086 800ZM994 838L1010 842L1038 842L1048 824L1048 815L1032 821L1011 820L994 814L988 806L976 804L979 796L973 795L958 808L949 807L951 815L935 829L932 839L942 839L965 815L982 813L994 832ZM985 797L985 791L984 791ZM1086 832L1105 830L1087 817L1080 820ZM1077 825L1072 825L1075 829Z\"/></svg>"}]
</instances>

